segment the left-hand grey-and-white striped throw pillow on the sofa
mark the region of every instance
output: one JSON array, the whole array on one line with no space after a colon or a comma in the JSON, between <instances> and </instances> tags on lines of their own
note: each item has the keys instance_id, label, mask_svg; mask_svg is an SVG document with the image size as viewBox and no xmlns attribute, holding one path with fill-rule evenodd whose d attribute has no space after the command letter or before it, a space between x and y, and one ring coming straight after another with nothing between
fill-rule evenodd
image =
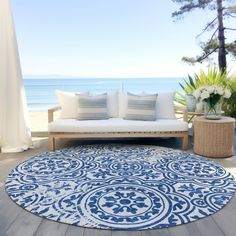
<instances>
[{"instance_id":1,"label":"left-hand grey-and-white striped throw pillow on the sofa","mask_svg":"<svg viewBox=\"0 0 236 236\"><path fill-rule=\"evenodd\" d=\"M109 118L106 93L78 96L78 120L105 120Z\"/></svg>"}]
</instances>

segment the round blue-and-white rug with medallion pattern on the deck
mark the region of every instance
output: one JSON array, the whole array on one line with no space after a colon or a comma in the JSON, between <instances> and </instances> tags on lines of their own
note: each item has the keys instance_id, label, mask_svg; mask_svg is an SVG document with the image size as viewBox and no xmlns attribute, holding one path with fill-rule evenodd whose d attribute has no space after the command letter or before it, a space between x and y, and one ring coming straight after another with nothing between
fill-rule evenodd
<instances>
[{"instance_id":1,"label":"round blue-and-white rug with medallion pattern on the deck","mask_svg":"<svg viewBox=\"0 0 236 236\"><path fill-rule=\"evenodd\" d=\"M233 176L212 161L140 145L42 153L18 165L6 180L11 199L38 216L119 230L201 219L220 210L235 189Z\"/></svg>"}]
</instances>

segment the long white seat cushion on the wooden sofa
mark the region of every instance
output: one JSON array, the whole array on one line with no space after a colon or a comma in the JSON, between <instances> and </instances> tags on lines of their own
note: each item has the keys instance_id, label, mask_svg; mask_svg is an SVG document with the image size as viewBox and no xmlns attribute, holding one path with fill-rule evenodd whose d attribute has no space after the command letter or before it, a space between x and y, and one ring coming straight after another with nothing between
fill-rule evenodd
<instances>
[{"instance_id":1,"label":"long white seat cushion on the wooden sofa","mask_svg":"<svg viewBox=\"0 0 236 236\"><path fill-rule=\"evenodd\" d=\"M188 123L177 119L160 119L156 121L124 120L110 118L108 120L76 120L59 119L49 123L49 132L159 132L187 131Z\"/></svg>"}]
</instances>

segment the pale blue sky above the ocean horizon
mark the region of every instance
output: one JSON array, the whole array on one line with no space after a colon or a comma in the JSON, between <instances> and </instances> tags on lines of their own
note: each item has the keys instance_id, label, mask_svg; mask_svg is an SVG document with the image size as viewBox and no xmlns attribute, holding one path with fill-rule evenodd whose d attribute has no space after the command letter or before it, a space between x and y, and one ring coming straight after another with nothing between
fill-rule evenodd
<instances>
[{"instance_id":1,"label":"pale blue sky above the ocean horizon","mask_svg":"<svg viewBox=\"0 0 236 236\"><path fill-rule=\"evenodd\" d=\"M236 0L232 0L236 3ZM205 65L196 39L214 14L174 21L171 0L12 0L24 77L180 77ZM236 25L236 19L228 21ZM236 32L227 34L236 38ZM232 64L233 63L233 64ZM236 62L232 62L233 66Z\"/></svg>"}]
</instances>

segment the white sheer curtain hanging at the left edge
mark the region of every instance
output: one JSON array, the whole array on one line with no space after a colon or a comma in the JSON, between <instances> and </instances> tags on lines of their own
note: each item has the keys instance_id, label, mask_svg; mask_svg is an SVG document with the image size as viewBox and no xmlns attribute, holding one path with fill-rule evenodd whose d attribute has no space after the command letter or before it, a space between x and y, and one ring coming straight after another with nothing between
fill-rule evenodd
<instances>
[{"instance_id":1,"label":"white sheer curtain hanging at the left edge","mask_svg":"<svg viewBox=\"0 0 236 236\"><path fill-rule=\"evenodd\" d=\"M0 149L32 146L10 0L0 0Z\"/></svg>"}]
</instances>

